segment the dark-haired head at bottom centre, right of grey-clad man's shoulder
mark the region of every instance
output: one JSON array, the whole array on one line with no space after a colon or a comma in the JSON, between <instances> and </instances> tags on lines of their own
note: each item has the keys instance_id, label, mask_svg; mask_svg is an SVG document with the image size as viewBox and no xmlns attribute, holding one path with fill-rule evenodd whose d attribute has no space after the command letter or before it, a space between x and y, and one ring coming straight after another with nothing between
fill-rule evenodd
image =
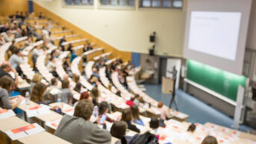
<instances>
[{"instance_id":1,"label":"dark-haired head at bottom centre, right of grey-clad man's shoulder","mask_svg":"<svg viewBox=\"0 0 256 144\"><path fill-rule=\"evenodd\" d=\"M110 129L110 134L113 137L121 139L123 136L125 136L125 132L127 128L128 128L128 125L124 121L113 122L113 125Z\"/></svg>"}]
</instances>

